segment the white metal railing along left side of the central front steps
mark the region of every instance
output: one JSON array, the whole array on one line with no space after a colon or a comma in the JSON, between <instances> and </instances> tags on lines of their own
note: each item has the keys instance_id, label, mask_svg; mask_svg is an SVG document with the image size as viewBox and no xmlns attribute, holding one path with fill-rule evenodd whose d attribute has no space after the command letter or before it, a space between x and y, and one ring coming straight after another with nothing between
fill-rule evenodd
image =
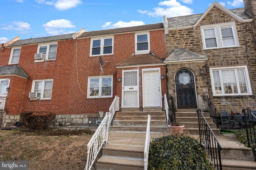
<instances>
[{"instance_id":1,"label":"white metal railing along left side of the central front steps","mask_svg":"<svg viewBox=\"0 0 256 170\"><path fill-rule=\"evenodd\" d=\"M116 96L109 108L110 112L106 112L105 117L96 129L91 140L87 144L87 160L84 170L90 170L100 149L108 143L108 132L110 123L116 111L119 111L119 97Z\"/></svg>"}]
</instances>

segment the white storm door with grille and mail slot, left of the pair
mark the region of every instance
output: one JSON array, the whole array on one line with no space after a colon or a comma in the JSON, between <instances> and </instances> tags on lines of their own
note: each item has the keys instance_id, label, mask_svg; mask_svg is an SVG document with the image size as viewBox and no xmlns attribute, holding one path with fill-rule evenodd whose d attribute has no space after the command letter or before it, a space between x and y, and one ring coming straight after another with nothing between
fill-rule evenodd
<instances>
[{"instance_id":1,"label":"white storm door with grille and mail slot, left of the pair","mask_svg":"<svg viewBox=\"0 0 256 170\"><path fill-rule=\"evenodd\" d=\"M123 70L122 107L139 107L138 70Z\"/></svg>"}]
</instances>

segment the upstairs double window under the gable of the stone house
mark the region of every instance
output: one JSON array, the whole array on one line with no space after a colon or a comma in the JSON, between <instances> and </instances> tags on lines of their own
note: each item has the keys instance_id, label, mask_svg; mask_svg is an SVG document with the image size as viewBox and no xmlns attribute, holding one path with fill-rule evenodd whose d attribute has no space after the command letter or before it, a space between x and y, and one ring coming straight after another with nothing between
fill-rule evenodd
<instances>
[{"instance_id":1,"label":"upstairs double window under the gable of the stone house","mask_svg":"<svg viewBox=\"0 0 256 170\"><path fill-rule=\"evenodd\" d=\"M202 26L201 33L204 49L239 46L235 23Z\"/></svg>"}]
</instances>

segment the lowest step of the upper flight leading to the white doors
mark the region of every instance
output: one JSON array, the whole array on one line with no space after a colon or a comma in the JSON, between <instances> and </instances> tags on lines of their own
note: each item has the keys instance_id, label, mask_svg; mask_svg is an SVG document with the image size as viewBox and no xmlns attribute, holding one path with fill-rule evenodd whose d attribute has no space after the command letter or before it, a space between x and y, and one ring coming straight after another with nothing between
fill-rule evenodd
<instances>
[{"instance_id":1,"label":"lowest step of the upper flight leading to the white doors","mask_svg":"<svg viewBox=\"0 0 256 170\"><path fill-rule=\"evenodd\" d=\"M118 126L111 126L110 130L114 132L118 131L128 131L128 132L146 132L147 127L146 126L124 126L124 125L118 125ZM166 132L167 125L166 126L151 126L150 132Z\"/></svg>"}]
</instances>

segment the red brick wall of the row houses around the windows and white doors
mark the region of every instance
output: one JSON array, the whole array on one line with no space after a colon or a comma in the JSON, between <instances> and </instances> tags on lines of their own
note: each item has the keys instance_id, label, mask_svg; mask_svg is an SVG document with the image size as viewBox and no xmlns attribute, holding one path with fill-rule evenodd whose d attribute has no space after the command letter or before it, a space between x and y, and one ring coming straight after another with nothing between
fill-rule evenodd
<instances>
[{"instance_id":1,"label":"red brick wall of the row houses around the windows and white doors","mask_svg":"<svg viewBox=\"0 0 256 170\"><path fill-rule=\"evenodd\" d=\"M118 82L118 78L122 76L117 76L115 66L134 53L135 33L114 35L114 54L101 56L103 72L100 70L99 56L90 57L90 38L58 41L55 61L34 63L37 47L37 44L22 46L19 66L28 78L11 78L7 114L17 115L21 111L50 111L58 115L98 114L99 111L108 111L115 95L121 99L122 83ZM150 31L150 47L158 57L166 58L164 30ZM3 59L0 66L8 65L10 51L11 48L0 51L0 59ZM164 72L165 67L161 66L161 74ZM113 76L112 98L87 98L88 76L99 75ZM44 79L53 79L51 100L30 100L28 94L32 81Z\"/></svg>"}]
</instances>

